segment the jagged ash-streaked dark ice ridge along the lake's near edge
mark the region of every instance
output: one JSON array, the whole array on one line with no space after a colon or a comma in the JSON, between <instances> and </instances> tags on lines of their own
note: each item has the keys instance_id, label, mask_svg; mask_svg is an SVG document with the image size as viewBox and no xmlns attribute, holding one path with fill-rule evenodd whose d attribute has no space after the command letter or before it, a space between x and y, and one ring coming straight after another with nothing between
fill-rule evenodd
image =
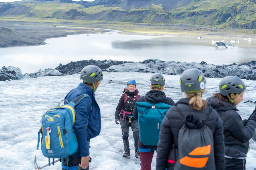
<instances>
[{"instance_id":1,"label":"jagged ash-streaked dark ice ridge along the lake's near edge","mask_svg":"<svg viewBox=\"0 0 256 170\"><path fill-rule=\"evenodd\" d=\"M36 78L42 76L65 76L79 73L86 65L97 65L107 72L144 72L161 73L169 75L181 75L184 70L198 68L203 71L205 77L225 77L229 75L238 76L247 80L256 80L256 61L245 62L242 64L214 65L202 61L197 62L174 62L161 61L160 59L148 59L143 62L127 62L115 60L82 60L70 62L66 65L59 64L55 69L39 70L34 73L22 75L19 68L13 66L3 67L0 70L0 81L21 78Z\"/></svg>"}]
</instances>

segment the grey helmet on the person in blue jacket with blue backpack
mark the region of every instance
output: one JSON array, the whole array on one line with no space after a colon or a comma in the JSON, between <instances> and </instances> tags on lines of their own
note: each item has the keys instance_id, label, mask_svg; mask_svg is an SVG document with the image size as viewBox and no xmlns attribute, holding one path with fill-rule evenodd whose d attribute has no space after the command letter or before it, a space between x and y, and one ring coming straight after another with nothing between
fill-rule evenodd
<instances>
[{"instance_id":1,"label":"grey helmet on the person in blue jacket with blue backpack","mask_svg":"<svg viewBox=\"0 0 256 170\"><path fill-rule=\"evenodd\" d=\"M87 83L95 83L98 80L103 80L103 73L100 67L87 65L82 69L80 79Z\"/></svg>"}]
</instances>

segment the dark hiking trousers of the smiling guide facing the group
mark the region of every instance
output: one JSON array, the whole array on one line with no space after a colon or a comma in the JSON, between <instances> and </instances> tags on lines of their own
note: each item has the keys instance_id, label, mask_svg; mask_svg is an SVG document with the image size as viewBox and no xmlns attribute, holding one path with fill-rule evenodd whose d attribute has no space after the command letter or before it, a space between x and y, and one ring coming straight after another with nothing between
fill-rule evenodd
<instances>
[{"instance_id":1,"label":"dark hiking trousers of the smiling guide facing the group","mask_svg":"<svg viewBox=\"0 0 256 170\"><path fill-rule=\"evenodd\" d=\"M124 142L124 151L127 151L130 153L130 145L129 145L129 127L131 127L133 131L133 139L134 139L134 150L135 152L138 150L138 138L139 138L139 126L137 120L131 120L131 123L129 123L129 120L122 120L120 117L120 125L123 135L123 142Z\"/></svg>"}]
</instances>

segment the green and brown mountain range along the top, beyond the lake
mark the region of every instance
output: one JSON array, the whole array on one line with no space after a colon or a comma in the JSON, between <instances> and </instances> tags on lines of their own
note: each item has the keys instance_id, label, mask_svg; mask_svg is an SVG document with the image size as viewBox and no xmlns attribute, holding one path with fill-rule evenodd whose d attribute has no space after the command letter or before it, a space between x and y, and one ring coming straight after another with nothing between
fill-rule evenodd
<instances>
[{"instance_id":1,"label":"green and brown mountain range along the top, beyond the lake","mask_svg":"<svg viewBox=\"0 0 256 170\"><path fill-rule=\"evenodd\" d=\"M0 4L0 17L172 23L251 29L255 0L37 0Z\"/></svg>"}]
</instances>

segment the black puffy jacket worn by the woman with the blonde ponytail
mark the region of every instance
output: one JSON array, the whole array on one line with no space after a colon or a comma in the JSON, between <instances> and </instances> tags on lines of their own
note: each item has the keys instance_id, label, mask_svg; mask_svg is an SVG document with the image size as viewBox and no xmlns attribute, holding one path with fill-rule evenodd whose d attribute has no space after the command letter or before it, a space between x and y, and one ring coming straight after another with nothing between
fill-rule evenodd
<instances>
[{"instance_id":1,"label":"black puffy jacket worn by the woman with the blonde ponytail","mask_svg":"<svg viewBox=\"0 0 256 170\"><path fill-rule=\"evenodd\" d=\"M174 161L178 160L178 135L179 130L184 124L184 121L181 119L176 109L176 107L179 107L184 117L189 113L193 113L202 121L205 121L207 115L211 112L206 125L211 129L213 134L216 170L224 170L225 157L222 121L218 113L212 109L211 106L207 105L202 111L193 110L188 103L189 100L190 99L180 99L176 105L169 109L163 119L157 145L156 169L164 170L165 167L167 167L168 170L172 170L175 164L168 163L168 159Z\"/></svg>"}]
</instances>

